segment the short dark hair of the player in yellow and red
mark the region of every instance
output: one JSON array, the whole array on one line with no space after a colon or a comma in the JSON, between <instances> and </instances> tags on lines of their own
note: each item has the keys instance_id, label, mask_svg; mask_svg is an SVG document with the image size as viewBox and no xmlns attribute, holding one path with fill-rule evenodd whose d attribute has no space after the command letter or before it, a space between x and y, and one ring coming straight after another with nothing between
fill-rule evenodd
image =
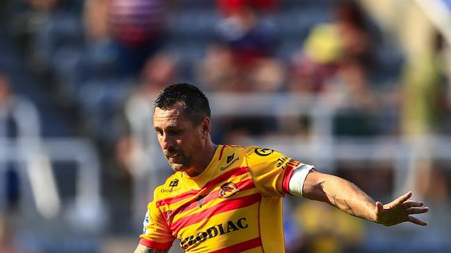
<instances>
[{"instance_id":1,"label":"short dark hair of the player in yellow and red","mask_svg":"<svg viewBox=\"0 0 451 253\"><path fill-rule=\"evenodd\" d=\"M155 100L154 106L167 110L183 102L188 119L197 124L206 116L211 118L210 105L205 94L195 85L179 82L165 87Z\"/></svg>"}]
</instances>

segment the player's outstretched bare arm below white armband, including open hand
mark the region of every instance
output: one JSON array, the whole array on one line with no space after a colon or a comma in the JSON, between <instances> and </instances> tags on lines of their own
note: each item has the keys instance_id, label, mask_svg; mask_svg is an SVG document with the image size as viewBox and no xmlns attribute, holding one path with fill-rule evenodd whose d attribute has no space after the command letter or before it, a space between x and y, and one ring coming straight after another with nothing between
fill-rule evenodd
<instances>
[{"instance_id":1,"label":"player's outstretched bare arm below white armband, including open hand","mask_svg":"<svg viewBox=\"0 0 451 253\"><path fill-rule=\"evenodd\" d=\"M307 175L302 195L311 200L327 202L352 216L371 220L385 226L410 222L425 226L427 223L413 216L425 213L423 202L409 200L412 193L406 193L388 204L375 202L359 187L341 177L312 171Z\"/></svg>"}]
</instances>

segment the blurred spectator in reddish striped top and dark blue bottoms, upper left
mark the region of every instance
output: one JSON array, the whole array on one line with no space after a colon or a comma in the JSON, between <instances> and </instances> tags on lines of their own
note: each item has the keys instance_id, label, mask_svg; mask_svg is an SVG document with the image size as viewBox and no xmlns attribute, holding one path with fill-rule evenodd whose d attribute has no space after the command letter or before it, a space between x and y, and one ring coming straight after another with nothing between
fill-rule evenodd
<instances>
[{"instance_id":1,"label":"blurred spectator in reddish striped top and dark blue bottoms, upper left","mask_svg":"<svg viewBox=\"0 0 451 253\"><path fill-rule=\"evenodd\" d=\"M85 1L88 55L101 77L140 72L165 41L166 9L167 3L161 0Z\"/></svg>"}]
</instances>

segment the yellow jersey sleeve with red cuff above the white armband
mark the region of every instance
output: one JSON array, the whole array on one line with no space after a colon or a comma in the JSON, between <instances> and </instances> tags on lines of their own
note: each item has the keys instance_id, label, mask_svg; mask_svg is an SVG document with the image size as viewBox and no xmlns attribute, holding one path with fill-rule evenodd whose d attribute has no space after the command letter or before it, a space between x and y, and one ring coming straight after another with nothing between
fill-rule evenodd
<instances>
[{"instance_id":1,"label":"yellow jersey sleeve with red cuff above the white armband","mask_svg":"<svg viewBox=\"0 0 451 253\"><path fill-rule=\"evenodd\" d=\"M246 159L254 184L263 195L291 195L290 178L301 162L276 150L255 146L247 149Z\"/></svg>"}]
</instances>

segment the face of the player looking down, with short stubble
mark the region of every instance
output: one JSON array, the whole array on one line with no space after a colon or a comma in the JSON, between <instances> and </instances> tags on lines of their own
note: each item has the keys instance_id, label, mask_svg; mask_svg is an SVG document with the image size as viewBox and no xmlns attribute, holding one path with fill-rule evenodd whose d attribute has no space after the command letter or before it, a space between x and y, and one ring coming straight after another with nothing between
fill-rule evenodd
<instances>
[{"instance_id":1,"label":"face of the player looking down, with short stubble","mask_svg":"<svg viewBox=\"0 0 451 253\"><path fill-rule=\"evenodd\" d=\"M204 146L201 123L193 125L181 103L154 111L154 129L163 154L174 171L194 169Z\"/></svg>"}]
</instances>

